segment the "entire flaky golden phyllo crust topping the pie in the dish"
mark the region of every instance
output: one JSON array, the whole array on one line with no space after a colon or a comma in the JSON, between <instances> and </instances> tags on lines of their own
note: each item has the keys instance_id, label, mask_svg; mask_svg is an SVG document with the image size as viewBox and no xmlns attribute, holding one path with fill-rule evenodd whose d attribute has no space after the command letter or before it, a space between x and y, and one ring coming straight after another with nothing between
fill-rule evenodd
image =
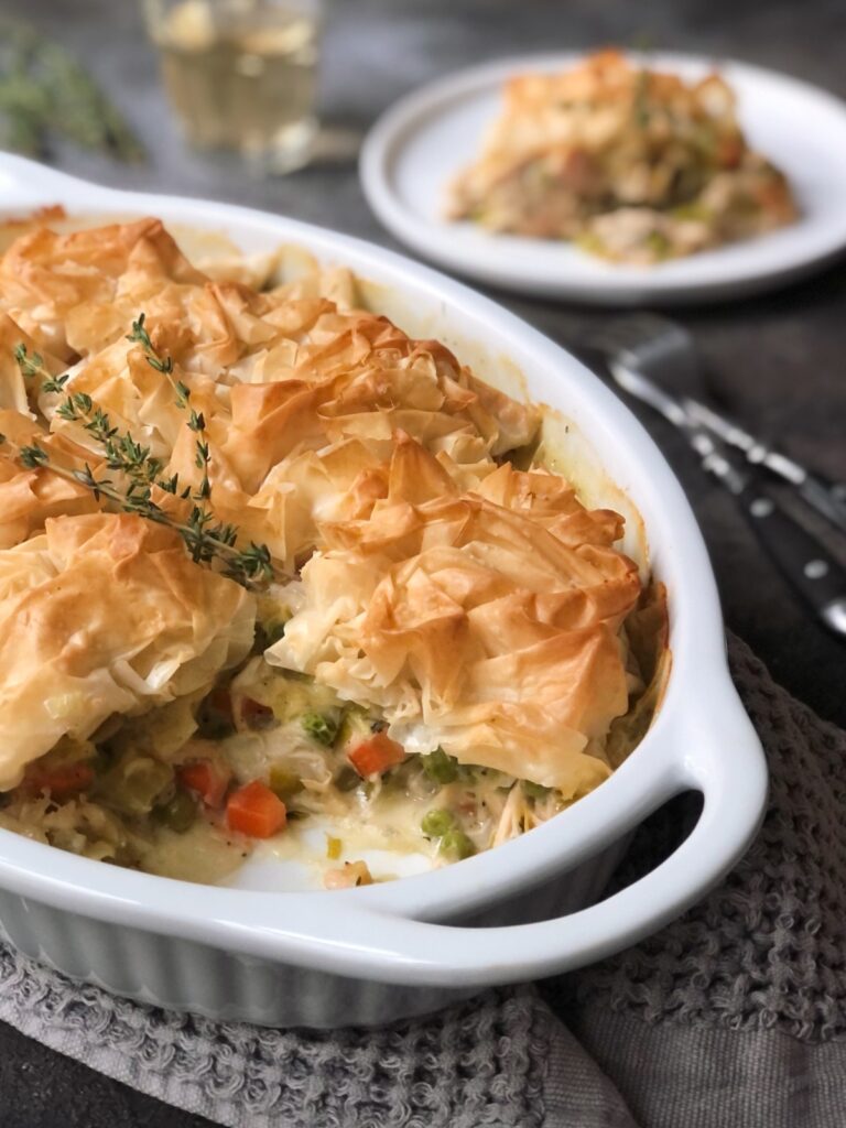
<instances>
[{"instance_id":1,"label":"entire flaky golden phyllo crust topping the pie in the dish","mask_svg":"<svg viewBox=\"0 0 846 1128\"><path fill-rule=\"evenodd\" d=\"M622 518L543 466L515 469L539 412L356 308L349 274L258 291L213 273L155 219L37 228L0 259L0 786L64 734L211 685L252 645L250 594L170 530L16 453L35 437L54 461L103 467L60 411L85 394L196 490L182 384L204 420L211 511L290 578L268 661L378 706L407 751L590 790L632 684L623 624L641 582L615 548ZM141 312L169 377L127 340ZM60 393L21 377L19 343L68 374ZM178 493L153 496L185 519Z\"/></svg>"}]
</instances>

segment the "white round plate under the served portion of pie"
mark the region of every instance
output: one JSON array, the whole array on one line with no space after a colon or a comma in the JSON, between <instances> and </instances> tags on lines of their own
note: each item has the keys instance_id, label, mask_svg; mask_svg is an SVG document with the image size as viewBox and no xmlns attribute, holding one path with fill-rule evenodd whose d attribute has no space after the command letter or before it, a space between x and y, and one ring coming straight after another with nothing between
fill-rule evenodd
<instances>
[{"instance_id":1,"label":"white round plate under the served portion of pie","mask_svg":"<svg viewBox=\"0 0 846 1128\"><path fill-rule=\"evenodd\" d=\"M572 67L578 54L510 59L461 71L396 103L370 131L361 182L388 230L479 282L606 306L735 298L811 273L846 248L846 104L773 71L689 55L634 55L686 79L713 69L733 87L755 149L788 176L801 218L779 231L655 266L605 263L567 243L494 235L442 218L451 177L479 151L505 79Z\"/></svg>"}]
</instances>

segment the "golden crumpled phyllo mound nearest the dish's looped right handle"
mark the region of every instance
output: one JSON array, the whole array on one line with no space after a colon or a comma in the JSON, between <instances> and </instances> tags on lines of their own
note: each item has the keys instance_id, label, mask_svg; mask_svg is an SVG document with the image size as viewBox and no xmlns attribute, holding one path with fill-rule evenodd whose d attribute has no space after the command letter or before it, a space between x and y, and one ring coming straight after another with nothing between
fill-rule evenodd
<instances>
[{"instance_id":1,"label":"golden crumpled phyllo mound nearest the dish's looped right handle","mask_svg":"<svg viewBox=\"0 0 846 1128\"><path fill-rule=\"evenodd\" d=\"M611 547L619 519L508 462L461 492L404 434L386 479L365 518L323 526L267 660L377 706L406 751L440 746L567 799L596 786L640 594Z\"/></svg>"}]
</instances>

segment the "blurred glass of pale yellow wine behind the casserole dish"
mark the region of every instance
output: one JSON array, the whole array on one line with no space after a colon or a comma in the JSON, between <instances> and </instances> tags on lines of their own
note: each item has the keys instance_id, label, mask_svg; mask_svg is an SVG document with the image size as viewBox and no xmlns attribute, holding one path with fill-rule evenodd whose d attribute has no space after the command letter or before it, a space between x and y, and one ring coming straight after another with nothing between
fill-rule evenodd
<instances>
[{"instance_id":1,"label":"blurred glass of pale yellow wine behind the casserole dish","mask_svg":"<svg viewBox=\"0 0 846 1128\"><path fill-rule=\"evenodd\" d=\"M317 134L320 0L144 0L188 142L258 168L305 165Z\"/></svg>"}]
</instances>

